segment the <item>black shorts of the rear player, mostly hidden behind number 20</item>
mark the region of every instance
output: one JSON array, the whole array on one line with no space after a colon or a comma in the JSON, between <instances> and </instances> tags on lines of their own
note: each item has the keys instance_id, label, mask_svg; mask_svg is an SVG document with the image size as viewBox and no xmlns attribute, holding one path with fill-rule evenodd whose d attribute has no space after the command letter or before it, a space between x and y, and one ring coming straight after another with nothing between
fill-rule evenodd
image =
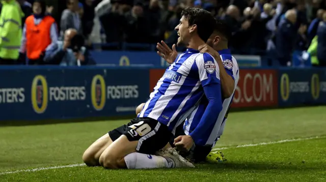
<instances>
[{"instance_id":1,"label":"black shorts of the rear player, mostly hidden behind number 20","mask_svg":"<svg viewBox=\"0 0 326 182\"><path fill-rule=\"evenodd\" d=\"M183 130L183 124L184 124L184 122L176 128L175 135L170 138L170 144L172 147L175 147L173 144L174 138L176 138L180 135L186 135ZM208 154L210 153L211 150L212 150L211 145L204 145L204 146L197 145L195 148L192 148L189 152L180 153L180 155L182 157L190 159L191 161L193 161L195 163L198 163L198 162L205 161L206 157L208 156Z\"/></svg>"}]
</instances>

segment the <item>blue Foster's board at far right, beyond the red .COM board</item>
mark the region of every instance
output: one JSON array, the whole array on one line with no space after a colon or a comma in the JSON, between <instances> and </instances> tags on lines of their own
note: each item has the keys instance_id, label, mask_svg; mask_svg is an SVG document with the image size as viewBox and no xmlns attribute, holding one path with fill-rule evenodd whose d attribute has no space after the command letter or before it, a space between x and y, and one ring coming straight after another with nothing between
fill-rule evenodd
<instances>
[{"instance_id":1,"label":"blue Foster's board at far right, beyond the red .COM board","mask_svg":"<svg viewBox=\"0 0 326 182\"><path fill-rule=\"evenodd\" d=\"M318 68L281 68L279 105L326 103L326 71Z\"/></svg>"}]
</instances>

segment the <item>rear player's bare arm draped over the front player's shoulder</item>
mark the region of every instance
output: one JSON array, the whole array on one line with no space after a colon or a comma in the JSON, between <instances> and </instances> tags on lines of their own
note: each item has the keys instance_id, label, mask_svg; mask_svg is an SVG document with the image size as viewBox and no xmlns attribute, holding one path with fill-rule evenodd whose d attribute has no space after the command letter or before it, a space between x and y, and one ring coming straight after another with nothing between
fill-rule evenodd
<instances>
[{"instance_id":1,"label":"rear player's bare arm draped over the front player's shoulder","mask_svg":"<svg viewBox=\"0 0 326 182\"><path fill-rule=\"evenodd\" d=\"M233 77L232 68L229 69L225 67L222 62L220 54L217 51L215 51L212 47L208 46L207 44L200 46L198 49L201 53L209 53L214 57L216 62L218 62L219 69L220 69L222 96L223 98L231 97L234 90L234 77Z\"/></svg>"}]
</instances>

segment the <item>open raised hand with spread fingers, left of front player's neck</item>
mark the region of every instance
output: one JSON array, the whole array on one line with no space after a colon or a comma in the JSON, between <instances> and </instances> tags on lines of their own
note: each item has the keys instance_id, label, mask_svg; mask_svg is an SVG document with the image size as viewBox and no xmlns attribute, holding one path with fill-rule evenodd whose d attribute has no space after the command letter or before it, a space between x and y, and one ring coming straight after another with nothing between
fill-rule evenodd
<instances>
[{"instance_id":1,"label":"open raised hand with spread fingers, left of front player's neck","mask_svg":"<svg viewBox=\"0 0 326 182\"><path fill-rule=\"evenodd\" d=\"M161 41L161 43L157 43L156 48L158 49L157 54L169 64L172 64L177 58L178 52L175 49L175 44L173 44L172 49L170 49L164 41Z\"/></svg>"}]
</instances>

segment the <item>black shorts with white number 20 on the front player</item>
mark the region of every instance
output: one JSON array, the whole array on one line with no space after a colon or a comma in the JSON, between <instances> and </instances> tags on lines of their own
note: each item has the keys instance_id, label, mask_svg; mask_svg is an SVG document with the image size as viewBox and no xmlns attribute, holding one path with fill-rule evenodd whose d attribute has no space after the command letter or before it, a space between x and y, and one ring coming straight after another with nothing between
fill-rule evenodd
<instances>
[{"instance_id":1,"label":"black shorts with white number 20 on the front player","mask_svg":"<svg viewBox=\"0 0 326 182\"><path fill-rule=\"evenodd\" d=\"M144 154L154 154L165 147L172 133L168 127L151 118L135 118L130 123L108 132L114 141L121 135L126 135L129 141L137 141L136 151Z\"/></svg>"}]
</instances>

